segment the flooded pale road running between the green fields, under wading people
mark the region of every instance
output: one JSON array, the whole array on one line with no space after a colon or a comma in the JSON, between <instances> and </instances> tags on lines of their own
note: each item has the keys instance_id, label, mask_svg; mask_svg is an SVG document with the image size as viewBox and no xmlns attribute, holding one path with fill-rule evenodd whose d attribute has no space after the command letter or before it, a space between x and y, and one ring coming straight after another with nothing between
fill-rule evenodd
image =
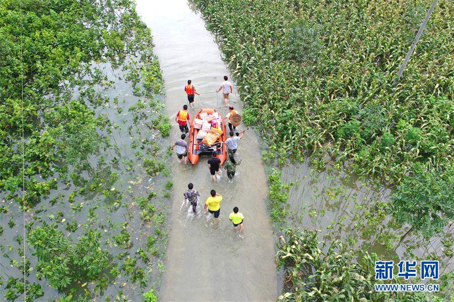
<instances>
[{"instance_id":1,"label":"flooded pale road running between the green fields, under wading people","mask_svg":"<svg viewBox=\"0 0 454 302\"><path fill-rule=\"evenodd\" d=\"M202 94L201 99L196 96L196 108L189 110L191 118L204 106L218 107L225 116L222 95L213 92L227 74L226 66L200 17L184 0L139 0L137 11L152 30L163 70L165 104L173 123L169 143L181 134L175 114L188 104L183 89L189 79ZM235 84L230 103L241 112ZM265 203L267 182L255 133L247 131L239 143L237 160L242 163L233 183L228 183L225 170L222 178L213 183L207 158L201 158L195 166L180 164L175 154L172 159L171 231L160 300L275 300L274 242ZM182 205L189 182L201 194L196 215L188 205ZM210 215L203 213L211 189L223 196L217 226ZM245 216L243 237L235 234L228 220L234 206Z\"/></svg>"}]
</instances>

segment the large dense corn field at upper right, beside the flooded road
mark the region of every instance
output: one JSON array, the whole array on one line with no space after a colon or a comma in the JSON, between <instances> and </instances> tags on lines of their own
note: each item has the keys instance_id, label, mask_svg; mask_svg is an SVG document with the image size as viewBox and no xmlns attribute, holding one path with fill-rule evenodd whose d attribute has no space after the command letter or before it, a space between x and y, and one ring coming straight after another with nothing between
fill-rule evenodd
<instances>
[{"instance_id":1,"label":"large dense corn field at upper right, beside the flooded road","mask_svg":"<svg viewBox=\"0 0 454 302\"><path fill-rule=\"evenodd\" d=\"M194 3L238 81L244 121L281 162L310 155L316 168L333 165L393 187L434 170L452 175L449 2L437 3L397 84L429 2ZM435 224L452 218L449 208L437 208L443 222Z\"/></svg>"}]
</instances>

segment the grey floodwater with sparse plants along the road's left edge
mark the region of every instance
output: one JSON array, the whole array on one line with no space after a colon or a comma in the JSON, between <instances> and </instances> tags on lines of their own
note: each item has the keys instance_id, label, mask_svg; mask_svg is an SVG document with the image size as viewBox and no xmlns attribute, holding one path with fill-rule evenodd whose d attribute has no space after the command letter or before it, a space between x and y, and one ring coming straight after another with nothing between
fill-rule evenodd
<instances>
[{"instance_id":1,"label":"grey floodwater with sparse plants along the road's left edge","mask_svg":"<svg viewBox=\"0 0 454 302\"><path fill-rule=\"evenodd\" d=\"M97 233L97 242L106 252L105 266L96 280L70 281L70 294L74 298L115 300L122 291L120 298L134 300L147 287L159 287L161 255L167 242L171 170L164 164L168 159L166 140L151 127L161 112L162 96L153 100L135 96L131 82L125 79L128 70L105 64L94 68L99 68L108 82L107 86L89 88L102 99L95 116L107 125L95 138L99 146L84 162L74 166L61 163L69 164L67 178L59 175L48 197L26 211L25 230L30 238L30 232L47 225L68 244L77 243L88 230ZM77 91L73 99L83 98L85 92ZM2 272L8 278L21 278L22 210L16 202L6 200L5 194L2 209ZM36 250L31 244L26 247L26 255ZM42 264L33 257L26 257L26 261L27 281L42 286L44 295L40 299L60 297L49 282L34 277L36 267Z\"/></svg>"}]
</instances>

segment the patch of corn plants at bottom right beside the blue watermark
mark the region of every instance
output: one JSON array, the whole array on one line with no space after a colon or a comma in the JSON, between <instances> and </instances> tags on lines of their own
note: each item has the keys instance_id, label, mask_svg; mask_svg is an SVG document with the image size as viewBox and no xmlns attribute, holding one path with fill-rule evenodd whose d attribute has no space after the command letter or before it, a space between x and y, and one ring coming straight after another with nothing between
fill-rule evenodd
<instances>
[{"instance_id":1,"label":"patch of corn plants at bottom right beside the blue watermark","mask_svg":"<svg viewBox=\"0 0 454 302\"><path fill-rule=\"evenodd\" d=\"M449 295L444 291L376 292L377 255L354 251L339 241L319 242L317 231L288 229L280 237L278 248L276 261L285 269L285 286L290 290L279 296L279 301L442 301ZM442 288L449 290L451 281L452 274L448 273Z\"/></svg>"}]
</instances>

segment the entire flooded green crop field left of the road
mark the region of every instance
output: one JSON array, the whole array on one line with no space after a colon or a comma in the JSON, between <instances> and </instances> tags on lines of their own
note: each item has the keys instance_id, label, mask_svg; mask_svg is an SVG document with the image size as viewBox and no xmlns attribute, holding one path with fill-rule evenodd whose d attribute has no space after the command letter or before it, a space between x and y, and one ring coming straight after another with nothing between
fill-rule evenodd
<instances>
[{"instance_id":1,"label":"entire flooded green crop field left of the road","mask_svg":"<svg viewBox=\"0 0 454 302\"><path fill-rule=\"evenodd\" d=\"M166 215L162 197L134 201L170 175L150 30L130 0L13 0L0 36L2 297L141 299L160 278Z\"/></svg>"}]
</instances>

